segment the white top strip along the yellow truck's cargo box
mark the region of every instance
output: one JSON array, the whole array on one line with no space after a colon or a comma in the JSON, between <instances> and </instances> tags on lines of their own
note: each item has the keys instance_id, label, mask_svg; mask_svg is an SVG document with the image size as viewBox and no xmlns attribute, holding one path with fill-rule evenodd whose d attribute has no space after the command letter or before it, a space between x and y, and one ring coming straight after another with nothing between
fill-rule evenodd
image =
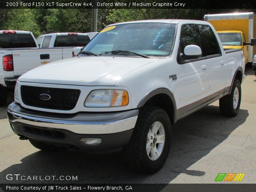
<instances>
[{"instance_id":1,"label":"white top strip along the yellow truck's cargo box","mask_svg":"<svg viewBox=\"0 0 256 192\"><path fill-rule=\"evenodd\" d=\"M253 19L254 16L255 16L254 12L208 14L204 16L204 20L211 21L211 20Z\"/></svg>"}]
</instances>

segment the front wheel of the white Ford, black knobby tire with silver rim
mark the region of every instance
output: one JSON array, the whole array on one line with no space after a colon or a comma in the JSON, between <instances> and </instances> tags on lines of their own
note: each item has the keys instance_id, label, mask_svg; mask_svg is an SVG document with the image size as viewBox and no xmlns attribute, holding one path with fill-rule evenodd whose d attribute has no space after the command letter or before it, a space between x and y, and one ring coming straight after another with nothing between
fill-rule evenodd
<instances>
[{"instance_id":1,"label":"front wheel of the white Ford, black knobby tire with silver rim","mask_svg":"<svg viewBox=\"0 0 256 192\"><path fill-rule=\"evenodd\" d=\"M154 106L140 109L126 156L131 168L155 173L164 165L170 150L171 123L164 110Z\"/></svg>"}]
</instances>

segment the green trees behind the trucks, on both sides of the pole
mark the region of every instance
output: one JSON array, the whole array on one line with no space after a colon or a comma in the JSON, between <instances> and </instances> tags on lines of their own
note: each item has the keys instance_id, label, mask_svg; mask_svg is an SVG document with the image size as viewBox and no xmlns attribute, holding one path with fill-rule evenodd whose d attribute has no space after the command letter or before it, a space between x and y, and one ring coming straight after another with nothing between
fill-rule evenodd
<instances>
[{"instance_id":1,"label":"green trees behind the trucks, on both sides of the pole","mask_svg":"<svg viewBox=\"0 0 256 192\"><path fill-rule=\"evenodd\" d=\"M97 28L144 19L196 19L204 14L256 12L255 9L98 9ZM90 32L92 9L1 9L0 30L31 31L35 37L52 32Z\"/></svg>"}]
</instances>

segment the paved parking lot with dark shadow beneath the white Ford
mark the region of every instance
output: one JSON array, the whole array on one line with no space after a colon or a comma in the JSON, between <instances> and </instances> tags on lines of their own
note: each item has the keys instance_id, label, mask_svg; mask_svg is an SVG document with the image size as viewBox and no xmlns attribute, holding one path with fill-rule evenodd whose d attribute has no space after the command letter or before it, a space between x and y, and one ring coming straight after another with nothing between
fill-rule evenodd
<instances>
[{"instance_id":1,"label":"paved parking lot with dark shadow beneath the white Ford","mask_svg":"<svg viewBox=\"0 0 256 192\"><path fill-rule=\"evenodd\" d=\"M218 173L245 173L256 181L256 77L247 69L242 104L235 118L220 115L218 102L173 126L166 164L154 175L132 172L122 152L91 155L81 151L42 152L19 140L0 108L0 183L214 183ZM8 102L12 102L12 94ZM78 176L77 181L6 180L7 174Z\"/></svg>"}]
</instances>

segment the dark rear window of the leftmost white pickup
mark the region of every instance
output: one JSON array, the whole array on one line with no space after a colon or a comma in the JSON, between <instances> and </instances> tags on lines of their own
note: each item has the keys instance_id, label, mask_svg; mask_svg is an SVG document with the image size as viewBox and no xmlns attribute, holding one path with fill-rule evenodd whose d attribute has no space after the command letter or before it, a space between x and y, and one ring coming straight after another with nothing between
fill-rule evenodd
<instances>
[{"instance_id":1,"label":"dark rear window of the leftmost white pickup","mask_svg":"<svg viewBox=\"0 0 256 192\"><path fill-rule=\"evenodd\" d=\"M1 48L30 48L36 47L36 42L31 34L6 33L0 34Z\"/></svg>"}]
</instances>

